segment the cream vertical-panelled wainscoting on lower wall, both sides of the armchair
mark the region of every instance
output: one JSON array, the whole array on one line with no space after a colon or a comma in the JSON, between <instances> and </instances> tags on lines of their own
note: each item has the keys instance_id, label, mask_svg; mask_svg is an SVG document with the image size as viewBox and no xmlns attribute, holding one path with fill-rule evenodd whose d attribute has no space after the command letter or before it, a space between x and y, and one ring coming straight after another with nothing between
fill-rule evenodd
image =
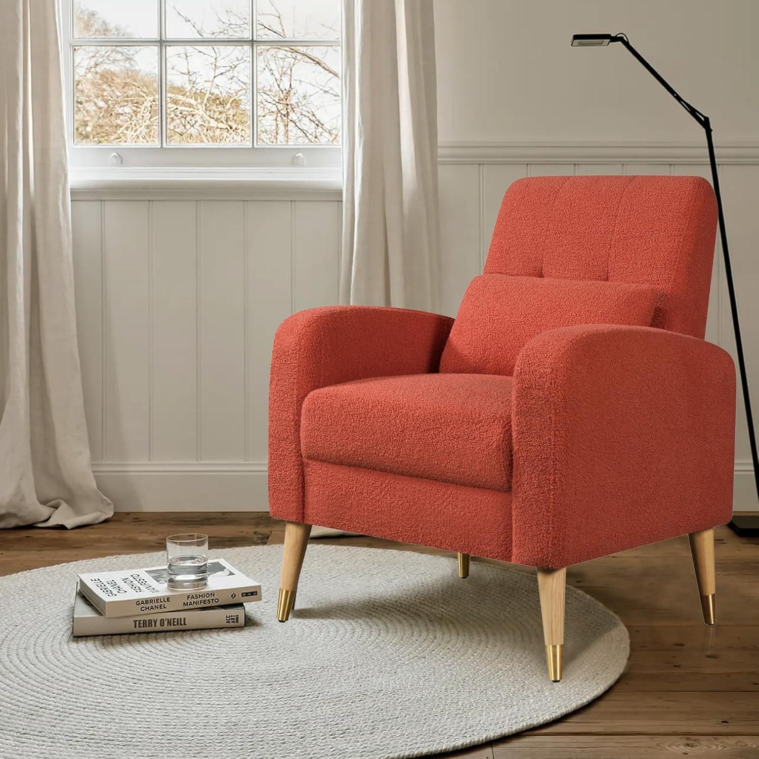
<instances>
[{"instance_id":1,"label":"cream vertical-panelled wainscoting on lower wall, both sides of the armchair","mask_svg":"<svg viewBox=\"0 0 759 759\"><path fill-rule=\"evenodd\" d=\"M759 151L723 151L720 181L748 370L759 405ZM482 270L506 187L572 174L710 178L688 146L468 145L441 150L441 310ZM265 510L269 354L290 313L338 298L332 196L239 191L74 195L74 272L96 477L121 511ZM719 245L707 339L735 354ZM742 398L735 508L756 509ZM705 442L707 444L707 442Z\"/></svg>"}]
</instances>

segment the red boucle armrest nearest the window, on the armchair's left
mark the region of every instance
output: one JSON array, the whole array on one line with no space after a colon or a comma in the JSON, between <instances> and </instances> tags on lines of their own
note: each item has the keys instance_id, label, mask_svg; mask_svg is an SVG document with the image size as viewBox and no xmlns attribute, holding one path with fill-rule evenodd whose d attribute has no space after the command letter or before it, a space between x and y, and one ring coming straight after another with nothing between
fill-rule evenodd
<instances>
[{"instance_id":1,"label":"red boucle armrest nearest the window, on the armchair's left","mask_svg":"<svg viewBox=\"0 0 759 759\"><path fill-rule=\"evenodd\" d=\"M327 306L279 326L269 383L269 509L302 521L301 407L320 387L375 376L432 373L453 320L376 306Z\"/></svg>"}]
</instances>

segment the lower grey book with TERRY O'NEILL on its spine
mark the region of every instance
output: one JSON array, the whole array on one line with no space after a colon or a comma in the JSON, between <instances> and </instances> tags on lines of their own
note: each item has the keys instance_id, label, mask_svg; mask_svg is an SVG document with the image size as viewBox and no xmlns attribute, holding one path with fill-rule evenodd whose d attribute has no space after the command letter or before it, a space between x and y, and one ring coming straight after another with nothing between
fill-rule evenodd
<instances>
[{"instance_id":1,"label":"lower grey book with TERRY O'NEILL on its spine","mask_svg":"<svg viewBox=\"0 0 759 759\"><path fill-rule=\"evenodd\" d=\"M181 612L138 614L128 617L104 617L77 592L74 599L72 630L74 638L82 635L120 635L128 632L169 632L172 630L210 630L219 627L244 627L245 607L200 606Z\"/></svg>"}]
</instances>

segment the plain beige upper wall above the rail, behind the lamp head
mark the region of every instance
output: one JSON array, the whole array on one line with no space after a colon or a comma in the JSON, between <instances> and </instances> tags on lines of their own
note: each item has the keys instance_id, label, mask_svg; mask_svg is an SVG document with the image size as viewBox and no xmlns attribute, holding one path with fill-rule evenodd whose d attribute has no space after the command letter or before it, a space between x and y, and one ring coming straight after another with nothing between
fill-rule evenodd
<instances>
[{"instance_id":1,"label":"plain beige upper wall above the rail, behind the lamp head","mask_svg":"<svg viewBox=\"0 0 759 759\"><path fill-rule=\"evenodd\" d=\"M619 44L624 32L713 121L759 140L756 0L435 0L439 138L700 141L701 129Z\"/></svg>"}]
</instances>

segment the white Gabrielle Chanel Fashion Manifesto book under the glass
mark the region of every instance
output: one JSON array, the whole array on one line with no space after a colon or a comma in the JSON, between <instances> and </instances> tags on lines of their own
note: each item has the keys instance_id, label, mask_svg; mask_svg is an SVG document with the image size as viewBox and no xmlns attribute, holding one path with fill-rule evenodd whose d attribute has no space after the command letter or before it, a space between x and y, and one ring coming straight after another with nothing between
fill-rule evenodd
<instances>
[{"instance_id":1,"label":"white Gabrielle Chanel Fashion Manifesto book under the glass","mask_svg":"<svg viewBox=\"0 0 759 759\"><path fill-rule=\"evenodd\" d=\"M197 591L170 591L165 566L89 572L79 575L79 590L106 617L138 616L228 606L261 600L261 585L224 559L208 560L208 584Z\"/></svg>"}]
</instances>

